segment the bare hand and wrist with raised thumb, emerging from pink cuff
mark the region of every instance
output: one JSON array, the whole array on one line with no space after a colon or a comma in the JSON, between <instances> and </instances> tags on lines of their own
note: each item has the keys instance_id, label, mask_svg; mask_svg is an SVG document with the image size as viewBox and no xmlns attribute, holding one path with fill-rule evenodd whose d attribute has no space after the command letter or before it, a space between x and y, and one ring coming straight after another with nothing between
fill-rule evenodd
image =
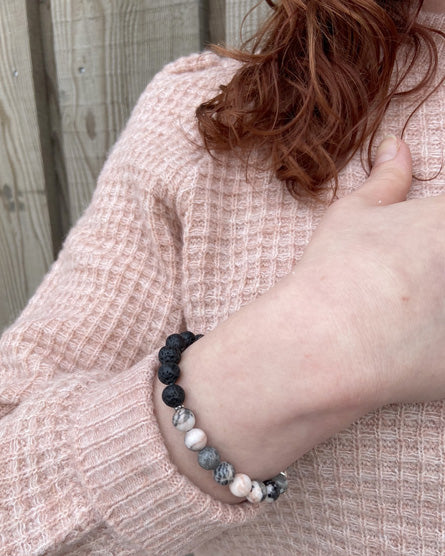
<instances>
[{"instance_id":1,"label":"bare hand and wrist with raised thumb, emerging from pink cuff","mask_svg":"<svg viewBox=\"0 0 445 556\"><path fill-rule=\"evenodd\" d=\"M404 201L404 143L326 212L284 279L187 349L186 406L237 471L265 479L389 402L445 397L445 198ZM390 146L390 145L389 145ZM383 156L383 158L382 158ZM161 431L179 470L239 502L183 445L155 386Z\"/></svg>"}]
</instances>

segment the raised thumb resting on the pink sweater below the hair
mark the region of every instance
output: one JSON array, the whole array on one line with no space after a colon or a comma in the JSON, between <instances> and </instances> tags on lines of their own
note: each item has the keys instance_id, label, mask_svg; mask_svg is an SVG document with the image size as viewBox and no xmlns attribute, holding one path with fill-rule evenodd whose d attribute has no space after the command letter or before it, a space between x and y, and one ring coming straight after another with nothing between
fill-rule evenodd
<instances>
[{"instance_id":1,"label":"raised thumb resting on the pink sweater below the hair","mask_svg":"<svg viewBox=\"0 0 445 556\"><path fill-rule=\"evenodd\" d=\"M369 178L354 195L366 204L390 205L406 199L412 180L408 145L395 135L380 143Z\"/></svg>"}]
</instances>

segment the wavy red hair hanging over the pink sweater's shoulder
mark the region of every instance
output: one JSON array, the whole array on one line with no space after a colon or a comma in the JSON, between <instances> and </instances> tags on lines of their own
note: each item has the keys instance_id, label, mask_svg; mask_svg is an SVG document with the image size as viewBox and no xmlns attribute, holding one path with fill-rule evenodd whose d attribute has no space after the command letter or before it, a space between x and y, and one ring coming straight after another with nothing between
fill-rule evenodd
<instances>
[{"instance_id":1,"label":"wavy red hair hanging over the pink sweater's shoulder","mask_svg":"<svg viewBox=\"0 0 445 556\"><path fill-rule=\"evenodd\" d=\"M245 156L267 146L269 163L294 197L317 197L332 179L335 195L339 170L368 138L370 162L391 99L432 83L434 33L445 34L416 21L423 0L266 1L272 14L240 49L212 45L242 65L196 110L205 148L212 154L239 147ZM425 73L402 90L423 47Z\"/></svg>"}]
</instances>

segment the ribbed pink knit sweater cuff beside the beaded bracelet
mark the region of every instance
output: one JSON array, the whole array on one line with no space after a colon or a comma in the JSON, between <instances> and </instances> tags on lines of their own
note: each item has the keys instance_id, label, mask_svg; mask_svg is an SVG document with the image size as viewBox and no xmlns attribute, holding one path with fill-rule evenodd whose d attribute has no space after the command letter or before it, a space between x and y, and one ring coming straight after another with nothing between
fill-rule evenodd
<instances>
[{"instance_id":1,"label":"ribbed pink knit sweater cuff beside the beaded bracelet","mask_svg":"<svg viewBox=\"0 0 445 556\"><path fill-rule=\"evenodd\" d=\"M215 500L178 472L154 414L156 366L152 354L88 391L77 408L78 457L98 511L122 542L180 554L261 509Z\"/></svg>"}]
</instances>

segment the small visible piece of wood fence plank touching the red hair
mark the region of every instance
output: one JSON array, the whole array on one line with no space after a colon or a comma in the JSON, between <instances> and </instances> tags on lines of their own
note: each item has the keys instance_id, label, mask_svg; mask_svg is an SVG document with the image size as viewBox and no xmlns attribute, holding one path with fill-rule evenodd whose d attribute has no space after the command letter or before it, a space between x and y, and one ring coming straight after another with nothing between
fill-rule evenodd
<instances>
[{"instance_id":1,"label":"small visible piece of wood fence plank touching the red hair","mask_svg":"<svg viewBox=\"0 0 445 556\"><path fill-rule=\"evenodd\" d=\"M258 5L247 17L241 29L244 16ZM239 47L258 29L260 23L270 15L271 8L258 0L226 0L226 42L228 46ZM242 31L242 39L240 32Z\"/></svg>"}]
</instances>

